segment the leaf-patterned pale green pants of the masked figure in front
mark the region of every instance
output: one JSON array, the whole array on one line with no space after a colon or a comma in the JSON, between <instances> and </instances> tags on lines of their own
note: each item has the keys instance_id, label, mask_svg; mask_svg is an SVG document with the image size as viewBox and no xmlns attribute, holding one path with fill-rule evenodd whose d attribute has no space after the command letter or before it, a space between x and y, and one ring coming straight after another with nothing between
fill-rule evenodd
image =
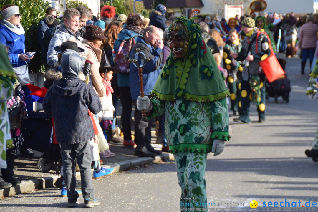
<instances>
[{"instance_id":1,"label":"leaf-patterned pale green pants of the masked figure in front","mask_svg":"<svg viewBox=\"0 0 318 212\"><path fill-rule=\"evenodd\" d=\"M202 211L207 209L205 174L207 153L174 153L179 186L180 209ZM185 210L186 211L186 210Z\"/></svg>"}]
</instances>

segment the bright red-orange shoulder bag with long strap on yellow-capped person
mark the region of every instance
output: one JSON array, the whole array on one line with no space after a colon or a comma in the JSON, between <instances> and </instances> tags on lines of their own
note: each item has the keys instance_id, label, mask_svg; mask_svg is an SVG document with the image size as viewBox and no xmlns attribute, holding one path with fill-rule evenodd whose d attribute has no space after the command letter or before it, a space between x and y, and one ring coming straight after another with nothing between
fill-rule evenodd
<instances>
[{"instance_id":1,"label":"bright red-orange shoulder bag with long strap on yellow-capped person","mask_svg":"<svg viewBox=\"0 0 318 212\"><path fill-rule=\"evenodd\" d=\"M280 66L273 48L272 48L272 44L271 44L271 40L269 38L269 36L262 31L258 31L257 36L256 36L256 54L258 53L258 36L259 34L264 33L267 36L267 40L269 43L269 48L271 50L271 54L263 61L259 61L259 65L262 67L263 72L265 73L267 80L269 82L273 82L276 79L280 78L281 76L283 76L285 74L284 70L282 69L282 67Z\"/></svg>"}]
</instances>

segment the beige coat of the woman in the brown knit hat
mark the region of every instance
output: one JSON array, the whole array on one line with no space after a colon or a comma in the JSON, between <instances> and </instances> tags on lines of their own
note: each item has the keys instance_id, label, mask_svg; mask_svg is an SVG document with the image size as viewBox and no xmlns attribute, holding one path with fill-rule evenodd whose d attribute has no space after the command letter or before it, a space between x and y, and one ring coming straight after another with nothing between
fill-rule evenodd
<instances>
[{"instance_id":1,"label":"beige coat of the woman in the brown knit hat","mask_svg":"<svg viewBox=\"0 0 318 212\"><path fill-rule=\"evenodd\" d=\"M99 66L100 66L102 51L100 49L95 48L86 39L82 41L82 44L84 44L87 47L86 59L93 62L92 68L91 68L91 80L93 83L93 88L95 92L98 93L100 96L106 96L105 86L99 74Z\"/></svg>"}]
</instances>

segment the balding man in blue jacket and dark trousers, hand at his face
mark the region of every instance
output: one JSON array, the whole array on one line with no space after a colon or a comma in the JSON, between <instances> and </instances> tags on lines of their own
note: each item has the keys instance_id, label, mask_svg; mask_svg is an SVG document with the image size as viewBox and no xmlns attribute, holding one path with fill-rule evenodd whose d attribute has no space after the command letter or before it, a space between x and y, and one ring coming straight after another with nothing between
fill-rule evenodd
<instances>
[{"instance_id":1,"label":"balding man in blue jacket and dark trousers, hand at his face","mask_svg":"<svg viewBox=\"0 0 318 212\"><path fill-rule=\"evenodd\" d=\"M160 74L160 64L162 61L162 48L163 48L162 32L155 26L149 26L145 29L143 37L136 37L136 44L134 45L130 56L136 52L137 48L141 49L146 55L146 58L150 58L150 62L142 68L142 83L145 96L150 95L157 78ZM134 102L140 95L140 84L138 68L132 63L130 64L130 94ZM155 150L150 145L151 140L151 123L153 119L147 120L142 117L142 112L135 109L135 155L140 157L155 157L160 155L161 151Z\"/></svg>"}]
</instances>

